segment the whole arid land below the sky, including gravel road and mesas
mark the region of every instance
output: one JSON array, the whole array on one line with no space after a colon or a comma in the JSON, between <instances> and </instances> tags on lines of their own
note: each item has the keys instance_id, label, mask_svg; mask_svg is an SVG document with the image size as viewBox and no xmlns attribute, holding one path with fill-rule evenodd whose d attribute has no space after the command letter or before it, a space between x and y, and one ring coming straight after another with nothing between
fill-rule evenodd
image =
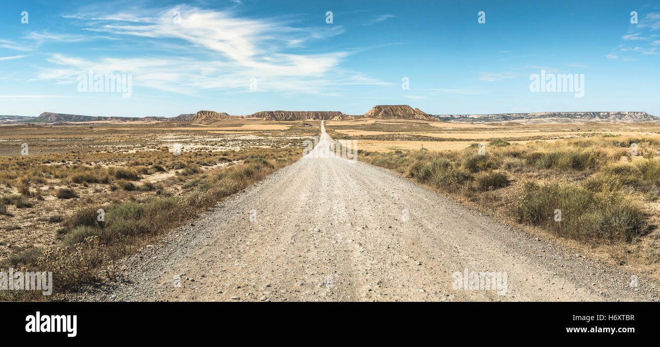
<instances>
[{"instance_id":1,"label":"whole arid land below the sky, including gravel road and mesas","mask_svg":"<svg viewBox=\"0 0 660 347\"><path fill-rule=\"evenodd\" d=\"M660 123L258 115L0 126L0 267L58 269L3 300L659 299ZM300 159L318 136L358 162Z\"/></svg>"}]
</instances>

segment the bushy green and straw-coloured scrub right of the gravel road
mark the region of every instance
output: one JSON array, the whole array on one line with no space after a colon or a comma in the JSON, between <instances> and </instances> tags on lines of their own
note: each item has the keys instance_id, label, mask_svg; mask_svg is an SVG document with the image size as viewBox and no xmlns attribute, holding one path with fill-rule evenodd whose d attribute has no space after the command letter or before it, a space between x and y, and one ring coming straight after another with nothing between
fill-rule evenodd
<instances>
[{"instance_id":1,"label":"bushy green and straw-coloured scrub right of the gravel road","mask_svg":"<svg viewBox=\"0 0 660 347\"><path fill-rule=\"evenodd\" d=\"M496 139L485 143L482 155L479 147L360 151L358 158L508 220L606 247L619 261L660 262L660 237L653 232L660 214L659 137Z\"/></svg>"}]
</instances>

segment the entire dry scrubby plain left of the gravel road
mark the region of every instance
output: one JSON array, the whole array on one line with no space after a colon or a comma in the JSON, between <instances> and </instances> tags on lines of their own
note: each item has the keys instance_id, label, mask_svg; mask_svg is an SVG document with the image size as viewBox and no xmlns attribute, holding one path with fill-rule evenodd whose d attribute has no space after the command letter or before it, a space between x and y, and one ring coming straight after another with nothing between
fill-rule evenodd
<instances>
[{"instance_id":1,"label":"entire dry scrubby plain left of the gravel road","mask_svg":"<svg viewBox=\"0 0 660 347\"><path fill-rule=\"evenodd\" d=\"M53 271L55 293L112 276L113 259L296 160L318 130L286 122L273 133L253 123L259 129L222 135L209 130L238 125L0 127L0 268ZM14 147L26 141L30 154L21 156Z\"/></svg>"}]
</instances>

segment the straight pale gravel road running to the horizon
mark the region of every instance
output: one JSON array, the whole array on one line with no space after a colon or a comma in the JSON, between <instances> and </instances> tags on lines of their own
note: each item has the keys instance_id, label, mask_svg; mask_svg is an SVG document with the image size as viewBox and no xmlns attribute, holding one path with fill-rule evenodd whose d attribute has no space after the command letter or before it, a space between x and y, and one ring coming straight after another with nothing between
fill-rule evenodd
<instances>
[{"instance_id":1,"label":"straight pale gravel road running to the horizon","mask_svg":"<svg viewBox=\"0 0 660 347\"><path fill-rule=\"evenodd\" d=\"M327 143L323 131L319 146ZM623 267L576 257L386 170L314 154L119 267L114 282L67 299L659 299L657 284L640 276L631 286Z\"/></svg>"}]
</instances>

